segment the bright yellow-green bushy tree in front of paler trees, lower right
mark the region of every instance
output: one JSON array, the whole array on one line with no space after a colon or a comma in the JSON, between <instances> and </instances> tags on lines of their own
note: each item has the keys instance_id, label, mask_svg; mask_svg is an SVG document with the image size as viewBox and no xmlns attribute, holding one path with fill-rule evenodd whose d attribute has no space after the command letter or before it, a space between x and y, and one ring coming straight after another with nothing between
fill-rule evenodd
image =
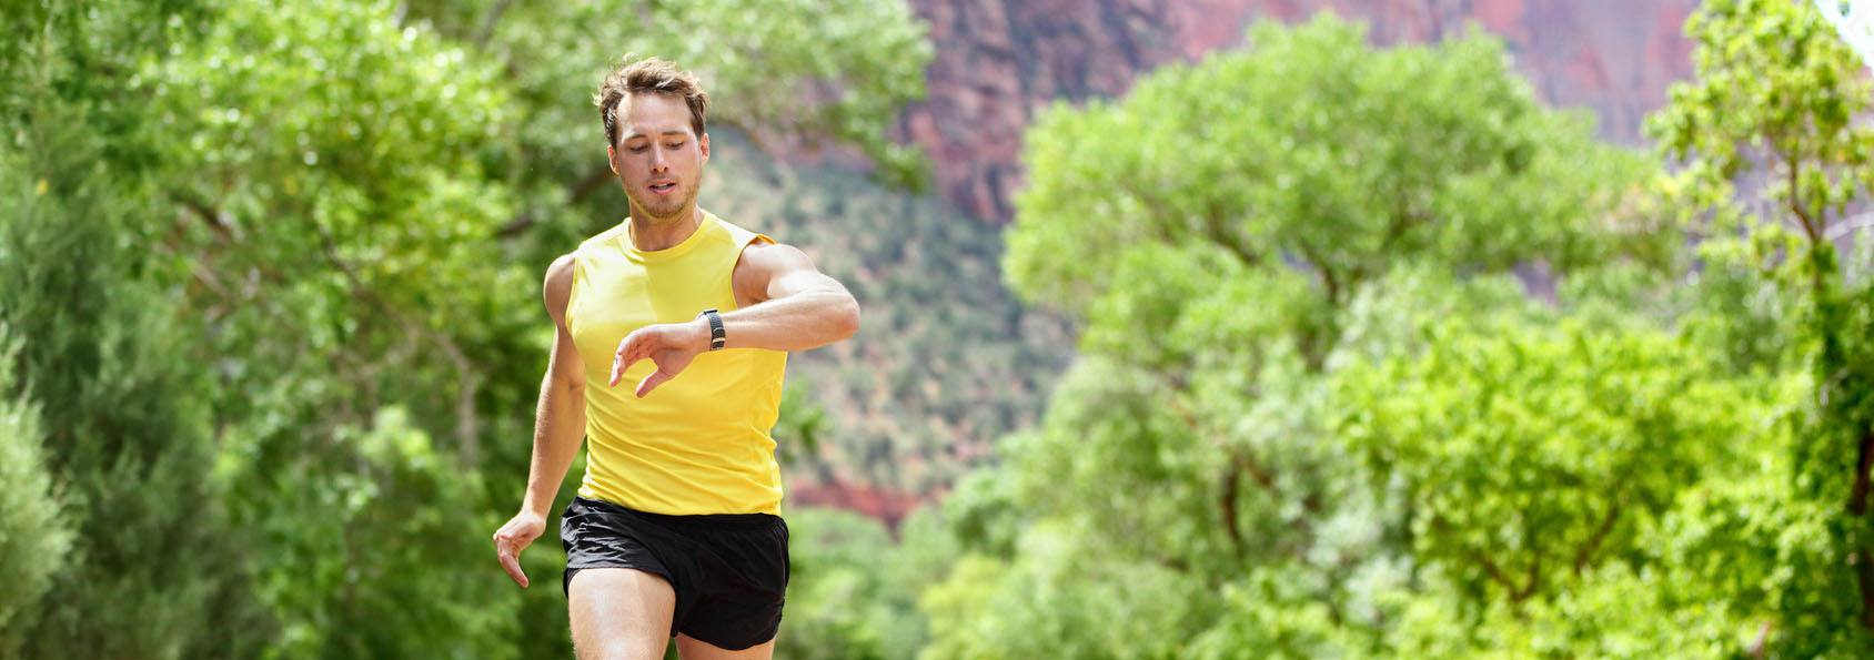
<instances>
[{"instance_id":1,"label":"bright yellow-green bushy tree in front of paler trees, lower right","mask_svg":"<svg viewBox=\"0 0 1874 660\"><path fill-rule=\"evenodd\" d=\"M1687 536L1670 523L1782 439L1760 422L1780 399L1645 326L1544 315L1426 326L1420 349L1334 373L1340 435L1402 504L1411 544L1415 589L1381 602L1404 619L1430 608L1460 632L1430 643L1435 626L1400 624L1387 645L1735 652L1756 608L1713 608L1718 576L1698 564L1715 553L1672 548ZM1745 568L1758 566L1726 566Z\"/></svg>"}]
</instances>

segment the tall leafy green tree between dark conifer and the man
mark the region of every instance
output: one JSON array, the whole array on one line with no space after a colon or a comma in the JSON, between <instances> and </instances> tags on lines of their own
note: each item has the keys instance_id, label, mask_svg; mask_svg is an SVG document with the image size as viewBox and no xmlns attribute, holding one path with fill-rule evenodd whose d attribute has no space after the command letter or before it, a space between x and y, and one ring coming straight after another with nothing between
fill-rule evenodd
<instances>
[{"instance_id":1,"label":"tall leafy green tree between dark conifer and the man","mask_svg":"<svg viewBox=\"0 0 1874 660\"><path fill-rule=\"evenodd\" d=\"M390 4L217 9L139 71L171 210L148 219L204 330L189 349L214 366L234 514L264 540L272 651L513 652L519 594L454 576L493 525L476 469L500 364L482 358L521 354L538 309L538 278L491 266L497 75Z\"/></svg>"}]
</instances>

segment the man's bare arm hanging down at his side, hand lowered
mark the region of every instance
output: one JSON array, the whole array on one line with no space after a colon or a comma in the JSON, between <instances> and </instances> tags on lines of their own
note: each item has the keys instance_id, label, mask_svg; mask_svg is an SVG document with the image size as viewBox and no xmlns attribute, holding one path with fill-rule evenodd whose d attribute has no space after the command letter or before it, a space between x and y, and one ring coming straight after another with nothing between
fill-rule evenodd
<instances>
[{"instance_id":1,"label":"man's bare arm hanging down at his side, hand lowered","mask_svg":"<svg viewBox=\"0 0 1874 660\"><path fill-rule=\"evenodd\" d=\"M534 411L534 458L527 469L527 493L521 512L495 532L495 553L515 583L527 587L521 572L521 551L545 531L553 497L560 491L566 469L579 454L585 437L585 364L566 330L566 300L573 289L573 255L562 255L547 266L542 298L553 317L555 339L547 358L547 375L540 382L540 405Z\"/></svg>"}]
</instances>

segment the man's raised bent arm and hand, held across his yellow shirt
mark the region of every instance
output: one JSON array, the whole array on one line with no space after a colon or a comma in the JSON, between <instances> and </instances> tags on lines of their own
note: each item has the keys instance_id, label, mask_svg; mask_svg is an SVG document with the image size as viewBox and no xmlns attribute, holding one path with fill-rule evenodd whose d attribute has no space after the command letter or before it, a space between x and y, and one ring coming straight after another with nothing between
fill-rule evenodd
<instances>
[{"instance_id":1,"label":"man's raised bent arm and hand, held across his yellow shirt","mask_svg":"<svg viewBox=\"0 0 1874 660\"><path fill-rule=\"evenodd\" d=\"M742 249L735 291L750 304L721 315L725 349L806 351L858 332L858 300L795 246L751 244ZM682 373L708 345L710 326L703 317L639 328L618 341L611 384L617 386L618 375L632 364L648 358L658 371L637 384L637 396L650 394Z\"/></svg>"}]
</instances>

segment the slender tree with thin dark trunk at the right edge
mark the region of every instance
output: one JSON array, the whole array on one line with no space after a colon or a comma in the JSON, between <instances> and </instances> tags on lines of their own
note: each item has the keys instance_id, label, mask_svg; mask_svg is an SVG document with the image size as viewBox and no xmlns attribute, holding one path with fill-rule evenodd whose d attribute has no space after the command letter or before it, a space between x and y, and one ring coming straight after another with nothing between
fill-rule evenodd
<instances>
[{"instance_id":1,"label":"slender tree with thin dark trunk at the right edge","mask_svg":"<svg viewBox=\"0 0 1874 660\"><path fill-rule=\"evenodd\" d=\"M1870 86L1807 2L1707 2L1687 34L1698 43L1696 77L1673 86L1670 105L1647 124L1681 163L1662 189L1702 234L1703 270L1726 283L1705 304L1709 339L1752 356L1747 366L1808 369L1790 456L1778 461L1784 493L1769 491L1777 506L1758 510L1786 529L1825 532L1732 525L1756 531L1747 538L1754 553L1777 557L1788 576L1771 585L1778 649L1865 654L1874 641L1867 634L1874 628L1874 345L1867 339L1874 287L1850 212L1863 206L1874 176L1874 129L1855 120L1868 109ZM1857 246L1853 259L1840 257L1842 244ZM1777 321L1778 311L1788 321Z\"/></svg>"}]
</instances>

